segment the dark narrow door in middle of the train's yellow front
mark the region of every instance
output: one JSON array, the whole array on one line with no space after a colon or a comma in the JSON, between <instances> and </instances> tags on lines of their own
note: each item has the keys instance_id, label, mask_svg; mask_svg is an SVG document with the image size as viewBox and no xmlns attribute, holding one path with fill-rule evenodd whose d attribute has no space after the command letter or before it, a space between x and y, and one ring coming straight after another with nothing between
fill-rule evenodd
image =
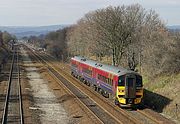
<instances>
[{"instance_id":1,"label":"dark narrow door in middle of the train's yellow front","mask_svg":"<svg viewBox=\"0 0 180 124\"><path fill-rule=\"evenodd\" d=\"M126 98L136 97L136 77L134 75L126 75L125 91Z\"/></svg>"}]
</instances>

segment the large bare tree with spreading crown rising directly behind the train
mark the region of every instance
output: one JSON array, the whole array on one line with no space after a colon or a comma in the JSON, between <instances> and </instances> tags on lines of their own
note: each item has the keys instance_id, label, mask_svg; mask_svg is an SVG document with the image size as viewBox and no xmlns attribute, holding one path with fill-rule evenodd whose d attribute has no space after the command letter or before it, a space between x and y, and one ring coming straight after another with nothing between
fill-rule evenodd
<instances>
[{"instance_id":1,"label":"large bare tree with spreading crown rising directly behind the train","mask_svg":"<svg viewBox=\"0 0 180 124\"><path fill-rule=\"evenodd\" d=\"M90 12L82 19L88 25L86 38L108 49L113 65L119 65L133 35L140 30L144 15L144 9L138 4Z\"/></svg>"}]
</instances>

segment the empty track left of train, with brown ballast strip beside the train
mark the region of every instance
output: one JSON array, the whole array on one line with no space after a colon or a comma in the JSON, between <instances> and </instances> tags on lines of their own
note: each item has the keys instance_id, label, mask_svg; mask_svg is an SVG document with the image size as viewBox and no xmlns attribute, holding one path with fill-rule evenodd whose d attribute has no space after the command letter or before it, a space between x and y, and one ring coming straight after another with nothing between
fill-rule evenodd
<instances>
[{"instance_id":1,"label":"empty track left of train, with brown ballast strip beside the train","mask_svg":"<svg viewBox=\"0 0 180 124\"><path fill-rule=\"evenodd\" d=\"M62 70L57 70L50 62L48 62L48 60L45 60L45 58L37 55L37 53L34 53L31 49L29 50L103 123L141 123L140 121L136 120L136 118L129 117L125 113L119 111L116 106L112 106L112 104L109 104L107 100L102 99L100 94L92 91L89 88L86 88L84 85L79 84L78 80L76 80L72 76L66 74L65 72L63 72L64 74L62 74Z\"/></svg>"}]
</instances>

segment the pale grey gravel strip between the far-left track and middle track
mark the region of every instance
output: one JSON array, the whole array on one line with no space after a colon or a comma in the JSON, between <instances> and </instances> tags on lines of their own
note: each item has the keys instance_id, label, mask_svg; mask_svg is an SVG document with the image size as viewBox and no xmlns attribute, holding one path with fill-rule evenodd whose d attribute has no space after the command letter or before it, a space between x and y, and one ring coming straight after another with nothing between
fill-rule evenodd
<instances>
[{"instance_id":1,"label":"pale grey gravel strip between the far-left track and middle track","mask_svg":"<svg viewBox=\"0 0 180 124\"><path fill-rule=\"evenodd\" d=\"M21 49L24 55L23 61L26 65L33 65L31 59L27 55L26 51ZM27 67L27 77L31 86L31 92L33 95L34 105L29 107L32 112L37 115L36 118L43 124L67 124L70 118L68 113L62 107L56 96L53 94L51 89L48 87L48 82L44 80L38 73L38 68Z\"/></svg>"}]
</instances>

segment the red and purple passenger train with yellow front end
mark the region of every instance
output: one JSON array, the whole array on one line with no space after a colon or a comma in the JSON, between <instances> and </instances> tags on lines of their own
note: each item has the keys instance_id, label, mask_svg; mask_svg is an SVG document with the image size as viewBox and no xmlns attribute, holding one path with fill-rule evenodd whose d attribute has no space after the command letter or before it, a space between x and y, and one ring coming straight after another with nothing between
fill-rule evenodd
<instances>
[{"instance_id":1,"label":"red and purple passenger train with yellow front end","mask_svg":"<svg viewBox=\"0 0 180 124\"><path fill-rule=\"evenodd\" d=\"M71 74L102 95L112 96L121 107L137 106L142 101L142 76L137 72L75 56L71 58Z\"/></svg>"}]
</instances>

